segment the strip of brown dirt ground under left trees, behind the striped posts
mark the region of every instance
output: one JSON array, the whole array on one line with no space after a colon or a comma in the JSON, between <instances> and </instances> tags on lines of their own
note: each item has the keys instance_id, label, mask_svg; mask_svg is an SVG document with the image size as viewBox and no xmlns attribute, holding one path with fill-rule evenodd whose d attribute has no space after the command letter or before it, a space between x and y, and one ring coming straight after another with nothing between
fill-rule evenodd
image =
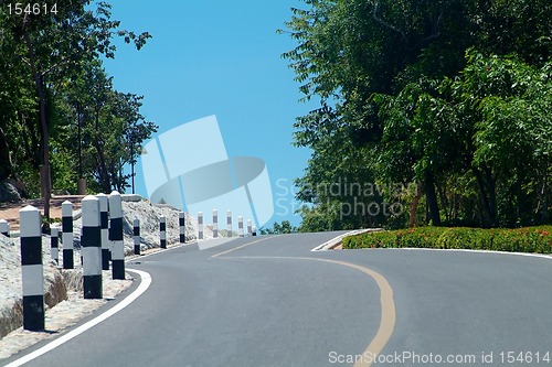
<instances>
[{"instance_id":1,"label":"strip of brown dirt ground under left trees, behind the striped posts","mask_svg":"<svg viewBox=\"0 0 552 367\"><path fill-rule=\"evenodd\" d=\"M70 201L73 203L73 211L81 208L81 199L84 196L71 195L71 196L53 196L50 201L50 218L61 219L62 218L62 203ZM41 198L25 199L19 203L0 203L0 219L8 220L10 224L10 230L19 230L19 211L23 207L32 205L38 208L42 215L44 215L44 201Z\"/></svg>"}]
</instances>

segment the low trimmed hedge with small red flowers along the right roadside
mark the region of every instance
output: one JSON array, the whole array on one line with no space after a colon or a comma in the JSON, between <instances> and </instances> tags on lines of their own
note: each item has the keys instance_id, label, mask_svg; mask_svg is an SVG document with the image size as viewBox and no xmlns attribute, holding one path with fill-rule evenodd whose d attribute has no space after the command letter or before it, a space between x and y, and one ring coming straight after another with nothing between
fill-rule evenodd
<instances>
[{"instance_id":1,"label":"low trimmed hedge with small red flowers along the right roadside","mask_svg":"<svg viewBox=\"0 0 552 367\"><path fill-rule=\"evenodd\" d=\"M344 249L442 248L510 252L552 252L552 226L516 229L420 227L343 238Z\"/></svg>"}]
</instances>

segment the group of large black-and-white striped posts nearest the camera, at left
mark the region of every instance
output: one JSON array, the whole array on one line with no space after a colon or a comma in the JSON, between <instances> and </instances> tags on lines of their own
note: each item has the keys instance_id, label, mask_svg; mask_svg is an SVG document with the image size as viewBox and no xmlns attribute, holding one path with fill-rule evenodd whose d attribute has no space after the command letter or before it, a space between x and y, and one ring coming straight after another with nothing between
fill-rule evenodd
<instances>
[{"instance_id":1,"label":"group of large black-and-white striped posts nearest the camera, at left","mask_svg":"<svg viewBox=\"0 0 552 367\"><path fill-rule=\"evenodd\" d=\"M107 195L99 197L88 195L82 201L82 259L84 276L84 298L102 299L102 269L106 239L112 246L113 278L125 279L125 248L123 244L123 208L121 197L117 192L108 197L110 224L106 226ZM105 198L103 198L105 197ZM73 206L70 202L62 204L62 241L63 265L65 269L74 267L73 261ZM71 220L70 220L71 218ZM6 220L4 220L6 222ZM21 269L23 283L23 328L29 331L44 330L44 281L42 262L42 226L41 214L33 206L20 211ZM106 236L106 227L108 234ZM3 235L9 235L9 228ZM52 228L52 258L59 257L59 229ZM108 247L107 247L108 248ZM70 268L71 267L71 268Z\"/></svg>"}]
</instances>

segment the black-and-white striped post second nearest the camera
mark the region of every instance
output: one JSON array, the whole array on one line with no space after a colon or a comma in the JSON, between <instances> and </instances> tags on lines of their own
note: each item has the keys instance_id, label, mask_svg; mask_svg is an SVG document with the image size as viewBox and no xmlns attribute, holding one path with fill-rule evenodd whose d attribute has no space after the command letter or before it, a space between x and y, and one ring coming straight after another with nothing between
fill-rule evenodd
<instances>
[{"instance_id":1,"label":"black-and-white striped post second nearest the camera","mask_svg":"<svg viewBox=\"0 0 552 367\"><path fill-rule=\"evenodd\" d=\"M83 251L84 298L98 300L102 292L102 227L99 199L88 195L83 198Z\"/></svg>"}]
</instances>

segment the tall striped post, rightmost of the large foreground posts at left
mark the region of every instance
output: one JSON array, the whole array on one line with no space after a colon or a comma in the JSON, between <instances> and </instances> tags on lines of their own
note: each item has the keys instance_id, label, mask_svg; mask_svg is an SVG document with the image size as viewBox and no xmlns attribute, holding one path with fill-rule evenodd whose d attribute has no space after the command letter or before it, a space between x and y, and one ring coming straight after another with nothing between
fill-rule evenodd
<instances>
[{"instance_id":1,"label":"tall striped post, rightmost of the large foreground posts at left","mask_svg":"<svg viewBox=\"0 0 552 367\"><path fill-rule=\"evenodd\" d=\"M125 279L125 242L123 241L123 201L114 191L109 195L109 240L112 241L113 279Z\"/></svg>"}]
</instances>

